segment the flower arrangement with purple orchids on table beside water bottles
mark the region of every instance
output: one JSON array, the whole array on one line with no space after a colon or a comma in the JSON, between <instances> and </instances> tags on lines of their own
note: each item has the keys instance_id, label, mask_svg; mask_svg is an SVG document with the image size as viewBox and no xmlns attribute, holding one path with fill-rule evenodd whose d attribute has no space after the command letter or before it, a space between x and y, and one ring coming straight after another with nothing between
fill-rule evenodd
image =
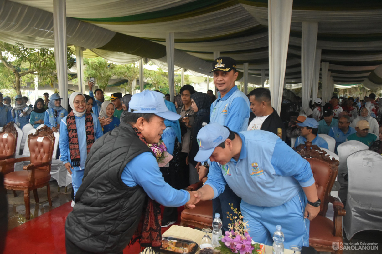
<instances>
[{"instance_id":1,"label":"flower arrangement with purple orchids on table beside water bottles","mask_svg":"<svg viewBox=\"0 0 382 254\"><path fill-rule=\"evenodd\" d=\"M220 254L258 254L264 253L264 244L252 243L252 238L249 236L247 228L248 221L243 220L243 215L237 208L233 208L233 204L229 204L234 215L227 212L227 218L232 223L228 224L228 229L225 231L225 236L219 241L220 246L215 248L220 250ZM262 246L261 246L262 245Z\"/></svg>"}]
</instances>

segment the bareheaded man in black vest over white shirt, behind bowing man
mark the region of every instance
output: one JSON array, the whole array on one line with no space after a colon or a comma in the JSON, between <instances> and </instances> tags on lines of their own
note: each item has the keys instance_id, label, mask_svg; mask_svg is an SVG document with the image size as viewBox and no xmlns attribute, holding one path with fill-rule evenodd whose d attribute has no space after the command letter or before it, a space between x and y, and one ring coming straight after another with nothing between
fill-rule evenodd
<instances>
[{"instance_id":1,"label":"bareheaded man in black vest over white shirt, behind bowing man","mask_svg":"<svg viewBox=\"0 0 382 254\"><path fill-rule=\"evenodd\" d=\"M256 88L249 93L249 102L254 117L249 117L247 130L267 130L275 133L283 141L286 138L284 123L272 108L270 91L267 88Z\"/></svg>"}]
</instances>

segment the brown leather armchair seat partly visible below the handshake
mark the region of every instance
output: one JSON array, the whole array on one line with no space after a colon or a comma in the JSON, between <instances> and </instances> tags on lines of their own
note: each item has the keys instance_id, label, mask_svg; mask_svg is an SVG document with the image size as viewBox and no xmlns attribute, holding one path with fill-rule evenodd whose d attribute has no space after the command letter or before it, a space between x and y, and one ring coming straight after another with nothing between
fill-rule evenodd
<instances>
[{"instance_id":1,"label":"brown leather armchair seat partly visible below the handshake","mask_svg":"<svg viewBox=\"0 0 382 254\"><path fill-rule=\"evenodd\" d=\"M197 182L188 186L186 190L194 191L201 188L202 185L202 182ZM194 209L186 207L180 215L180 225L184 227L194 226L212 229L212 220L212 200L200 201Z\"/></svg>"}]
</instances>

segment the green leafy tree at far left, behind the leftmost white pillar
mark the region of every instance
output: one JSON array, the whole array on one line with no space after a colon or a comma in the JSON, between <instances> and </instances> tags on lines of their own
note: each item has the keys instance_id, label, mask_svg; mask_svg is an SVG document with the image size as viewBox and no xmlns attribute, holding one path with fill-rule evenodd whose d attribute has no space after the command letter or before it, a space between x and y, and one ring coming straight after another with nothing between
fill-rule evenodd
<instances>
[{"instance_id":1,"label":"green leafy tree at far left, behind the leftmost white pillar","mask_svg":"<svg viewBox=\"0 0 382 254\"><path fill-rule=\"evenodd\" d=\"M71 68L74 64L74 51L70 48L67 48L67 59L68 68ZM0 76L5 77L5 83L8 86L12 85L19 95L21 86L26 85L26 82L34 84L34 75L38 76L42 85L49 84L53 87L53 83L57 82L56 62L52 49L26 48L21 43L10 45L0 42L0 61L0 65L5 67L0 68L2 72Z\"/></svg>"}]
</instances>

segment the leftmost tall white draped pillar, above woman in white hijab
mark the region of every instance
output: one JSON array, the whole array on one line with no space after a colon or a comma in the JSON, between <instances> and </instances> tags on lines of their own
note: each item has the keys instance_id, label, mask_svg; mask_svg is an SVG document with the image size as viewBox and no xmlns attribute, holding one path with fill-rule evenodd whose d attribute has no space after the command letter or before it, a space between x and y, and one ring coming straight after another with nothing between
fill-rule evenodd
<instances>
[{"instance_id":1,"label":"leftmost tall white draped pillar, above woman in white hijab","mask_svg":"<svg viewBox=\"0 0 382 254\"><path fill-rule=\"evenodd\" d=\"M54 54L61 104L68 109L68 74L66 59L66 4L65 0L53 0Z\"/></svg>"}]
</instances>

